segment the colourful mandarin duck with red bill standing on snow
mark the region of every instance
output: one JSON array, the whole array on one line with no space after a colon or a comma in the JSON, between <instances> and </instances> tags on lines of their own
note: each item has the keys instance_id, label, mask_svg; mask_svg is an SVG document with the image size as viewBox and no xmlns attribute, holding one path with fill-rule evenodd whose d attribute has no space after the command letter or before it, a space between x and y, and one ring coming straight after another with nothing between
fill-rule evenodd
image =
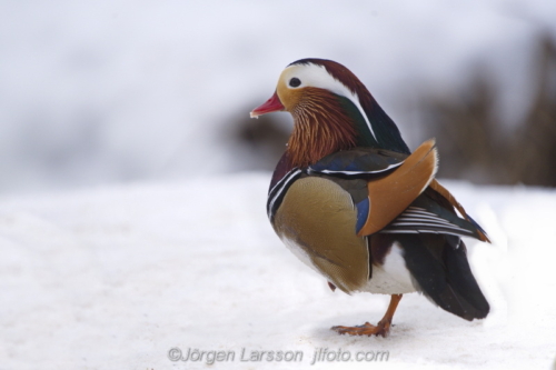
<instances>
[{"instance_id":1,"label":"colourful mandarin duck with red bill standing on snow","mask_svg":"<svg viewBox=\"0 0 556 370\"><path fill-rule=\"evenodd\" d=\"M275 111L291 113L294 130L268 192L274 230L332 291L391 296L376 326L332 330L386 337L415 291L463 319L487 316L461 237L488 237L435 179L434 140L411 153L367 88L330 60L289 64L251 117Z\"/></svg>"}]
</instances>

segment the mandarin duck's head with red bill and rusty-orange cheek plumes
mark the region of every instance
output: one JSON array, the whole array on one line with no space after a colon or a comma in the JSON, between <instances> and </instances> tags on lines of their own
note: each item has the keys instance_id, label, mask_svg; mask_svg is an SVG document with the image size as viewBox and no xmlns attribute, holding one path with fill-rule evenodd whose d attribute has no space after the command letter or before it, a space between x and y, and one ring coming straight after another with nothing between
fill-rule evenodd
<instances>
[{"instance_id":1,"label":"mandarin duck's head with red bill and rusty-orange cheek plumes","mask_svg":"<svg viewBox=\"0 0 556 370\"><path fill-rule=\"evenodd\" d=\"M367 88L331 60L301 59L289 64L276 92L251 111L251 118L275 111L294 117L287 152L295 167L354 147L409 153L398 128Z\"/></svg>"}]
</instances>

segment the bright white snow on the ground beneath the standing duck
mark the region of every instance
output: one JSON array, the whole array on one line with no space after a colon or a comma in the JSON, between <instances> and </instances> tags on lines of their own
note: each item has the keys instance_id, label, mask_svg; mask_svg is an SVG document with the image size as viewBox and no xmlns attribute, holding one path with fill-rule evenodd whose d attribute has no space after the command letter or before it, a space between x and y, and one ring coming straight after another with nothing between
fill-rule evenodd
<instances>
[{"instance_id":1,"label":"bright white snow on the ground beneath the standing duck","mask_svg":"<svg viewBox=\"0 0 556 370\"><path fill-rule=\"evenodd\" d=\"M388 351L383 362L315 368L547 369L556 356L556 191L444 181L493 244L468 240L492 313L467 322L406 294L391 334L387 296L331 292L274 234L270 174L103 186L0 199L0 368L301 369L316 350ZM168 351L234 352L172 362ZM302 361L241 361L241 350Z\"/></svg>"}]
</instances>

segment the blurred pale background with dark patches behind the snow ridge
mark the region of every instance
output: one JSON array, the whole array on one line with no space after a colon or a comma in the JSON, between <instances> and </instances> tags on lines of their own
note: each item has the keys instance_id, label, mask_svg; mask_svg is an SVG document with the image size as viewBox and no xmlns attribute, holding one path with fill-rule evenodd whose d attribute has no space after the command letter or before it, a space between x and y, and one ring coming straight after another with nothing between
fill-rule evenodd
<instances>
[{"instance_id":1,"label":"blurred pale background with dark patches behind the snow ridge","mask_svg":"<svg viewBox=\"0 0 556 370\"><path fill-rule=\"evenodd\" d=\"M281 70L358 76L439 177L556 186L556 1L2 1L0 194L272 170Z\"/></svg>"}]
</instances>

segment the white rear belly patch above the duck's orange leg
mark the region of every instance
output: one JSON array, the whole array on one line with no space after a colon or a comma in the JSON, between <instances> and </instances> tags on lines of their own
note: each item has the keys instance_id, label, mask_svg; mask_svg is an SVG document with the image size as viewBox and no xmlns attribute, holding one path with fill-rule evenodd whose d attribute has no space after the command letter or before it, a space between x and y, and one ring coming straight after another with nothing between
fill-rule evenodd
<instances>
[{"instance_id":1,"label":"white rear belly patch above the duck's orange leg","mask_svg":"<svg viewBox=\"0 0 556 370\"><path fill-rule=\"evenodd\" d=\"M361 291L380 294L404 294L417 291L401 253L403 249L395 242L385 258L385 263L373 266L373 276Z\"/></svg>"}]
</instances>

